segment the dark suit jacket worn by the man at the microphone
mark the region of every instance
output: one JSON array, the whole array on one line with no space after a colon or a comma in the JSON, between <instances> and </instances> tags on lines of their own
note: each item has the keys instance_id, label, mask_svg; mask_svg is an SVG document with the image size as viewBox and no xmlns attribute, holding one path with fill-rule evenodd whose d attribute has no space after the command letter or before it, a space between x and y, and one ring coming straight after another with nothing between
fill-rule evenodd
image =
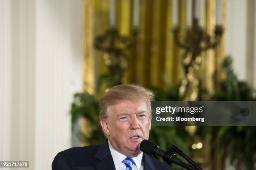
<instances>
[{"instance_id":1,"label":"dark suit jacket worn by the man at the microphone","mask_svg":"<svg viewBox=\"0 0 256 170\"><path fill-rule=\"evenodd\" d=\"M97 146L74 147L58 153L52 170L115 170L108 142ZM144 170L172 170L172 168L143 153Z\"/></svg>"}]
</instances>

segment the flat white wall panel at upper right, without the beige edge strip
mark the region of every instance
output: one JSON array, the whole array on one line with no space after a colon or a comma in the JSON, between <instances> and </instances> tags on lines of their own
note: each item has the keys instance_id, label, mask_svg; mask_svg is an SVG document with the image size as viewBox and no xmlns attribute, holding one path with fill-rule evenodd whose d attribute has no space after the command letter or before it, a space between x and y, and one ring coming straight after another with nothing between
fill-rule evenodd
<instances>
[{"instance_id":1,"label":"flat white wall panel at upper right, without the beige edge strip","mask_svg":"<svg viewBox=\"0 0 256 170\"><path fill-rule=\"evenodd\" d=\"M239 80L246 80L246 0L226 0L225 51Z\"/></svg>"}]
</instances>

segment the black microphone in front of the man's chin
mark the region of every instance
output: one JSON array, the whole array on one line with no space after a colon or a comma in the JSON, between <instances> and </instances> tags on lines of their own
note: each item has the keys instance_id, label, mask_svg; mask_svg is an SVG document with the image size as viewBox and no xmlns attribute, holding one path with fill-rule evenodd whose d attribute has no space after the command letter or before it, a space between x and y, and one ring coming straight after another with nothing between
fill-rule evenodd
<instances>
[{"instance_id":1,"label":"black microphone in front of the man's chin","mask_svg":"<svg viewBox=\"0 0 256 170\"><path fill-rule=\"evenodd\" d=\"M170 150L165 152L164 150L161 150L159 145L156 145L156 143L153 143L149 140L142 140L140 144L140 150L143 153L146 153L152 157L157 156L162 158L164 162L167 164L174 163L183 168L186 168L187 170L195 170L191 165L188 165L184 163L182 160L180 160L179 158L176 158L176 155L174 152Z\"/></svg>"}]
</instances>

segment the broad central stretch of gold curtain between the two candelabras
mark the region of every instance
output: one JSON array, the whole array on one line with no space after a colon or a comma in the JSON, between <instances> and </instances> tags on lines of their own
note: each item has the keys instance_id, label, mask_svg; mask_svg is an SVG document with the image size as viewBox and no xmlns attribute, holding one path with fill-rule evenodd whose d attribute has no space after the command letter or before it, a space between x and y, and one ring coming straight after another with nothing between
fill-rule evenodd
<instances>
[{"instance_id":1,"label":"broad central stretch of gold curtain between the two candelabras","mask_svg":"<svg viewBox=\"0 0 256 170\"><path fill-rule=\"evenodd\" d=\"M186 0L180 3L186 5ZM184 28L186 10L181 11ZM174 44L172 30L172 0L140 0L139 34L130 67L136 74L128 77L129 82L164 88L175 86L182 79L181 50Z\"/></svg>"}]
</instances>

